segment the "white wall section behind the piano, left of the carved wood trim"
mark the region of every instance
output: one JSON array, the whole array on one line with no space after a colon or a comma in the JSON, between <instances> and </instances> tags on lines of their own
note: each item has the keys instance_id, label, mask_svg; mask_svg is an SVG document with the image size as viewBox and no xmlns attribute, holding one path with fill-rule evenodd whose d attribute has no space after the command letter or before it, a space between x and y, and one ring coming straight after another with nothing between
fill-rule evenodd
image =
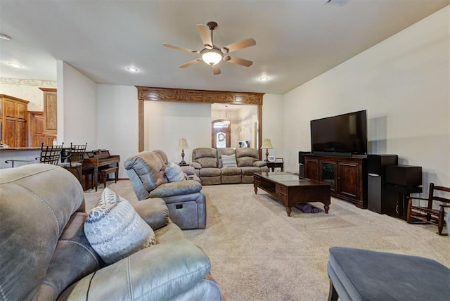
<instances>
[{"instance_id":1,"label":"white wall section behind the piano, left of the carved wood trim","mask_svg":"<svg viewBox=\"0 0 450 301\"><path fill-rule=\"evenodd\" d=\"M98 147L120 155L119 177L128 178L123 162L139 149L137 89L98 84L97 96Z\"/></svg>"}]
</instances>

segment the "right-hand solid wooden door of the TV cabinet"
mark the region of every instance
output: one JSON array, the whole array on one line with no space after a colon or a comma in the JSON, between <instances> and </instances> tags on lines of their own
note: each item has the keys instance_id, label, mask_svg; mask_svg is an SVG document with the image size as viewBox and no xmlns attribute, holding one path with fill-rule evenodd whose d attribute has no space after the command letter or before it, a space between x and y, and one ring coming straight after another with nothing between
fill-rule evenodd
<instances>
[{"instance_id":1,"label":"right-hand solid wooden door of the TV cabinet","mask_svg":"<svg viewBox=\"0 0 450 301\"><path fill-rule=\"evenodd\" d=\"M359 163L338 162L338 193L351 198L361 198Z\"/></svg>"}]
</instances>

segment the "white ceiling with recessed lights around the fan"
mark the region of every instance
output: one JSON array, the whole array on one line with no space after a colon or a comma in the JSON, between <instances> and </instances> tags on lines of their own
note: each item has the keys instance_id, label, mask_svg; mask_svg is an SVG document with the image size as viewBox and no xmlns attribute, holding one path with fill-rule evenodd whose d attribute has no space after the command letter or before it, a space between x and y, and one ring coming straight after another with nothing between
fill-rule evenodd
<instances>
[{"instance_id":1,"label":"white ceiling with recessed lights around the fan","mask_svg":"<svg viewBox=\"0 0 450 301\"><path fill-rule=\"evenodd\" d=\"M323 2L0 0L0 33L12 38L0 39L0 77L56 80L56 60L63 60L101 84L283 94L450 4ZM217 46L257 41L231 53L252 60L250 68L221 62L221 75L201 62L178 68L198 55L162 43L201 50L196 25L208 21L219 24Z\"/></svg>"}]
</instances>

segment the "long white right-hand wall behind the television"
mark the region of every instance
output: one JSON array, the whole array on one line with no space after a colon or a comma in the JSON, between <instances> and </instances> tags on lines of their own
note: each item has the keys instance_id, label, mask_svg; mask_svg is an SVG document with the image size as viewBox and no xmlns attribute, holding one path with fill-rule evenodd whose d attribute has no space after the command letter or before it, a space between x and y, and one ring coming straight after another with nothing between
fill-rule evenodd
<instances>
[{"instance_id":1,"label":"long white right-hand wall behind the television","mask_svg":"<svg viewBox=\"0 0 450 301\"><path fill-rule=\"evenodd\" d=\"M309 121L367 109L369 153L395 153L450 186L450 7L284 95L288 170L309 151ZM266 120L266 119L264 119Z\"/></svg>"}]
</instances>

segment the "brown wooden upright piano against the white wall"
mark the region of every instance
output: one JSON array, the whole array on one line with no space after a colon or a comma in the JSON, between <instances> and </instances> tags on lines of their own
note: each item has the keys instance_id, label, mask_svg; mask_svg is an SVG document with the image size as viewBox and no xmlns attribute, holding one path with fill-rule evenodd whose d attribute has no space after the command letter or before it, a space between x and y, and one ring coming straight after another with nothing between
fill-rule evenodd
<instances>
[{"instance_id":1,"label":"brown wooden upright piano against the white wall","mask_svg":"<svg viewBox=\"0 0 450 301\"><path fill-rule=\"evenodd\" d=\"M110 165L115 165L117 167L115 172L115 180L119 177L119 161L120 155L110 155L108 150L94 150L86 151L84 153L83 168L93 168L94 169L94 186L97 191L97 181L98 181L98 168L108 167Z\"/></svg>"}]
</instances>

